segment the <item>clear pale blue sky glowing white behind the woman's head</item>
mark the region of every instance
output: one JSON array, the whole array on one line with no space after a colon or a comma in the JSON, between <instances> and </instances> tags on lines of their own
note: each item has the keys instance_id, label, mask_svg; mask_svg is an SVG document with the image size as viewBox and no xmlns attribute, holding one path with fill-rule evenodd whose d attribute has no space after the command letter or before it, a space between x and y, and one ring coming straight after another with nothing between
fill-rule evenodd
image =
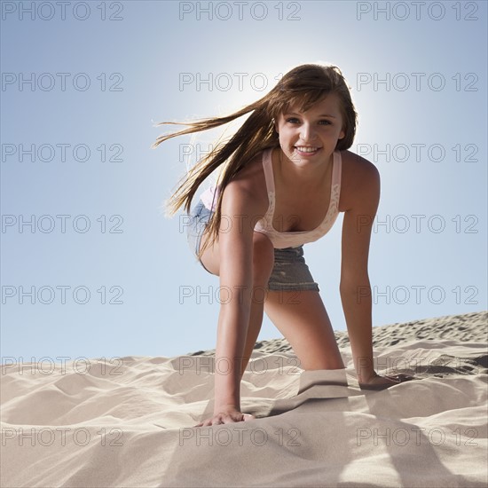
<instances>
[{"instance_id":1,"label":"clear pale blue sky glowing white behind the woman's head","mask_svg":"<svg viewBox=\"0 0 488 488\"><path fill-rule=\"evenodd\" d=\"M350 151L379 169L373 324L486 310L486 14L473 2L2 2L0 355L174 357L216 345L218 278L164 202L220 131L182 122L340 67ZM201 185L198 196L210 185ZM335 330L341 214L304 256ZM264 318L259 340L281 337Z\"/></svg>"}]
</instances>

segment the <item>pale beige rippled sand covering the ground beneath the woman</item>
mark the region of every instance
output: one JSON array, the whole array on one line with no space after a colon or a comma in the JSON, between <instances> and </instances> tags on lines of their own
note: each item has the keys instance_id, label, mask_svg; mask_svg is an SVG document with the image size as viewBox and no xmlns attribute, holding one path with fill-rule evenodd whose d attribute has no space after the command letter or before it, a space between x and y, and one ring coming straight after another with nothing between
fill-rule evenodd
<instances>
[{"instance_id":1,"label":"pale beige rippled sand covering the ground beneath the woman","mask_svg":"<svg viewBox=\"0 0 488 488\"><path fill-rule=\"evenodd\" d=\"M263 341L244 374L256 420L196 429L212 413L211 351L2 366L1 485L486 486L487 313L374 327L377 371L303 372Z\"/></svg>"}]
</instances>

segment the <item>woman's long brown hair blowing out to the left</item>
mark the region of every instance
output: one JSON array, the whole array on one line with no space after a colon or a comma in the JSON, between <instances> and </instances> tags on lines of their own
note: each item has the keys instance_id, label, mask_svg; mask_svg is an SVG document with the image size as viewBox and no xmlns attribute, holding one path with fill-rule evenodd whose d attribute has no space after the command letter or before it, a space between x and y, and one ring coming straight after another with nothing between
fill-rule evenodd
<instances>
[{"instance_id":1,"label":"woman's long brown hair blowing out to the left","mask_svg":"<svg viewBox=\"0 0 488 488\"><path fill-rule=\"evenodd\" d=\"M343 151L352 146L356 135L358 114L352 103L349 87L342 72L335 66L306 64L295 67L288 71L267 95L234 114L196 122L159 122L156 124L156 126L163 124L187 125L189 129L179 130L169 135L161 135L151 146L152 148L170 138L214 129L250 113L246 122L228 141L217 144L210 153L188 171L187 175L180 180L175 193L169 198L169 215L174 215L182 206L187 213L190 213L193 196L199 186L218 167L225 164L224 170L219 175L220 191L216 201L216 211L209 220L210 239L201 247L199 256L217 238L225 186L239 173L240 169L256 157L257 153L269 147L279 146L279 136L274 130L274 121L278 120L279 114L285 113L289 106L295 105L304 112L332 93L335 93L339 98L342 130L345 132L345 136L337 141L335 150Z\"/></svg>"}]
</instances>

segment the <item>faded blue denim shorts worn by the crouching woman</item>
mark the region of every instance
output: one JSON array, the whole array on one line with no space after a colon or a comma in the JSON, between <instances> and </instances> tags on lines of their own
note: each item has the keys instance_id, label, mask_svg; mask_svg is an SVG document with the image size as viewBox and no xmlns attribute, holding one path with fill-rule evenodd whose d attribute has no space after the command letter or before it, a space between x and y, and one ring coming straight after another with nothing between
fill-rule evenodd
<instances>
[{"instance_id":1,"label":"faded blue denim shorts worn by the crouching woman","mask_svg":"<svg viewBox=\"0 0 488 488\"><path fill-rule=\"evenodd\" d=\"M199 201L189 214L186 226L188 245L203 269L207 268L201 263L197 254L200 250L201 236L209 223L212 211ZM311 276L308 265L303 257L303 246L298 248L274 249L274 266L268 281L270 291L319 291L319 284Z\"/></svg>"}]
</instances>

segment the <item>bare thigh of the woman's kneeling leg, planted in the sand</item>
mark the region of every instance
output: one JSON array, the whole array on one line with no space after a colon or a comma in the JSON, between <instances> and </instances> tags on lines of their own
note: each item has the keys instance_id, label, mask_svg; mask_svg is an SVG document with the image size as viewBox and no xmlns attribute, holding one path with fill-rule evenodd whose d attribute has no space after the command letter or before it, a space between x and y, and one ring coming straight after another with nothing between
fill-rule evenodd
<instances>
[{"instance_id":1,"label":"bare thigh of the woman's kneeling leg, planted in the sand","mask_svg":"<svg viewBox=\"0 0 488 488\"><path fill-rule=\"evenodd\" d=\"M340 369L341 353L318 291L268 291L264 311L287 339L303 369Z\"/></svg>"}]
</instances>

